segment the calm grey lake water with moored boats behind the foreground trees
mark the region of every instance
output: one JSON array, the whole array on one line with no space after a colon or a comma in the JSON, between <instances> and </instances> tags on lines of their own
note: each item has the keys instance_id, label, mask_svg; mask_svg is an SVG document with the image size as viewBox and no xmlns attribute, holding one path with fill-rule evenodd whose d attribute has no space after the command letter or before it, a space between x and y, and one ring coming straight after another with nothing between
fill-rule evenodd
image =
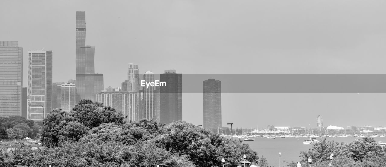
<instances>
[{"instance_id":1,"label":"calm grey lake water with moored boats behind the foreground trees","mask_svg":"<svg viewBox=\"0 0 386 167\"><path fill-rule=\"evenodd\" d=\"M235 139L235 137L234 137ZM236 138L238 140L238 138ZM244 140L245 138L241 138ZM254 141L243 141L243 143L249 144L249 147L252 150L255 150L259 153L259 157L262 155L267 159L268 166L279 166L279 152L281 152L281 167L286 166L287 163L283 162L286 160L287 162L291 162L291 160L298 162L300 161L300 152L308 151L309 148L312 147L310 144L303 144L303 141L309 139L307 137L300 138L281 138L276 137L276 139L268 139L266 137L255 137ZM349 143L356 139L361 139L357 137L331 137L331 138L317 138L317 140L327 141L335 141L335 142L344 142ZM374 138L376 142L381 140L386 141L386 137L376 137ZM242 155L240 155L242 156Z\"/></svg>"}]
</instances>

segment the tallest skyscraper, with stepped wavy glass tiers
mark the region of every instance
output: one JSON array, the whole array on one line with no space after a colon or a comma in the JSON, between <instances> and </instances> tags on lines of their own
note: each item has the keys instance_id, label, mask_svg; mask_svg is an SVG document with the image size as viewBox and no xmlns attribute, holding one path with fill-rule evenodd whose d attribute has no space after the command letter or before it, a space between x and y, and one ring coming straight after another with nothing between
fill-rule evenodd
<instances>
[{"instance_id":1,"label":"tallest skyscraper, with stepped wavy glass tiers","mask_svg":"<svg viewBox=\"0 0 386 167\"><path fill-rule=\"evenodd\" d=\"M94 46L86 46L86 13L76 12L76 90L77 100L95 100L103 90L103 74L94 68Z\"/></svg>"}]
</instances>

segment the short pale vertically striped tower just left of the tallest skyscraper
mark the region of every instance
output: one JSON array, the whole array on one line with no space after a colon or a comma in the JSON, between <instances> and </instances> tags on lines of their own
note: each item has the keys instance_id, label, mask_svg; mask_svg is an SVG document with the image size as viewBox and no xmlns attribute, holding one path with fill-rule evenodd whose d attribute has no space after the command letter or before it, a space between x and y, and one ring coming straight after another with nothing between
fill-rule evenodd
<instances>
[{"instance_id":1,"label":"short pale vertically striped tower just left of the tallest skyscraper","mask_svg":"<svg viewBox=\"0 0 386 167\"><path fill-rule=\"evenodd\" d=\"M61 88L60 107L64 111L71 111L76 104L76 87L73 83L63 83Z\"/></svg>"}]
</instances>

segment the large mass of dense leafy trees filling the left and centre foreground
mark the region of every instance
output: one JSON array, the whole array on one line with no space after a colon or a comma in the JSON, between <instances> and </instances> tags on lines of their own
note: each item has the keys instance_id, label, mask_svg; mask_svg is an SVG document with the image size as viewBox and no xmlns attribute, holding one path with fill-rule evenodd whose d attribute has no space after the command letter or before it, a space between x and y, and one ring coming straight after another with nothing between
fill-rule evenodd
<instances>
[{"instance_id":1,"label":"large mass of dense leafy trees filling the left and centre foreground","mask_svg":"<svg viewBox=\"0 0 386 167\"><path fill-rule=\"evenodd\" d=\"M236 167L240 156L257 163L257 153L241 141L220 137L184 121L125 122L111 107L89 100L73 111L55 109L43 121L45 147L0 150L0 166Z\"/></svg>"}]
</instances>

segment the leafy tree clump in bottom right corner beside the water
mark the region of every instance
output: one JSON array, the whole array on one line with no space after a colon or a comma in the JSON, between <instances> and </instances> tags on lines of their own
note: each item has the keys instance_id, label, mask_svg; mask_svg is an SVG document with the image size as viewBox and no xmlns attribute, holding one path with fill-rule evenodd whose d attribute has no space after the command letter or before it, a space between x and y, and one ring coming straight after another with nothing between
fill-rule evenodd
<instances>
[{"instance_id":1,"label":"leafy tree clump in bottom right corner beside the water","mask_svg":"<svg viewBox=\"0 0 386 167\"><path fill-rule=\"evenodd\" d=\"M330 161L330 154L334 157ZM322 140L308 151L301 152L301 166L308 166L308 157L312 159L313 167L384 167L386 164L385 150L372 138L364 137L347 144ZM296 167L297 162L288 163Z\"/></svg>"}]
</instances>

